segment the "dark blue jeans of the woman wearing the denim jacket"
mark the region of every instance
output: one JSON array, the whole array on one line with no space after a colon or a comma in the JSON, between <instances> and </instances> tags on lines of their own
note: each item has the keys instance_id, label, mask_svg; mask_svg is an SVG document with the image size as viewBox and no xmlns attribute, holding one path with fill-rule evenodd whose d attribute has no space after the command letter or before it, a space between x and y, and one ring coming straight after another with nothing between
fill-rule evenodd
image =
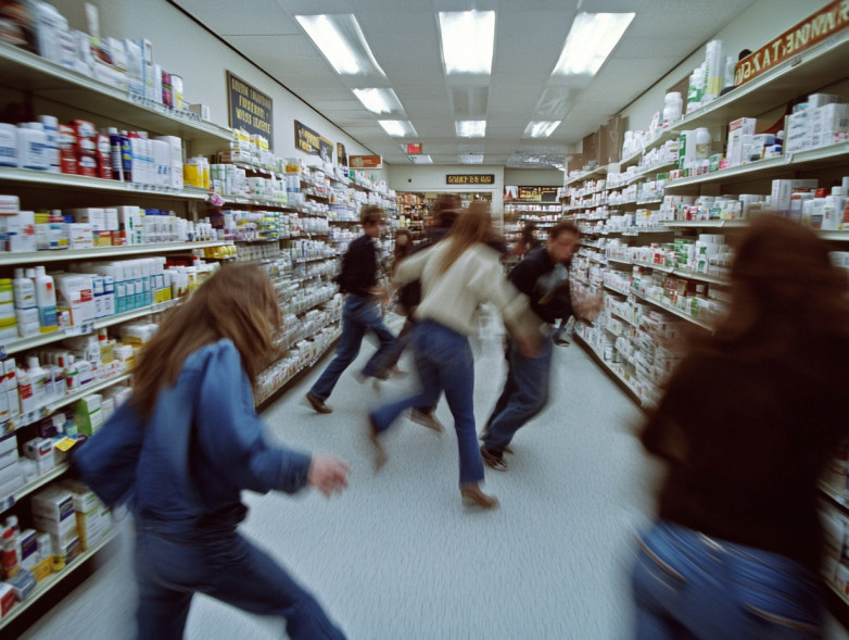
<instances>
[{"instance_id":1,"label":"dark blue jeans of the woman wearing the denim jacket","mask_svg":"<svg viewBox=\"0 0 849 640\"><path fill-rule=\"evenodd\" d=\"M280 616L293 640L344 639L313 595L235 530L203 541L176 540L144 523L136 530L139 640L181 640L195 592Z\"/></svg>"}]
</instances>

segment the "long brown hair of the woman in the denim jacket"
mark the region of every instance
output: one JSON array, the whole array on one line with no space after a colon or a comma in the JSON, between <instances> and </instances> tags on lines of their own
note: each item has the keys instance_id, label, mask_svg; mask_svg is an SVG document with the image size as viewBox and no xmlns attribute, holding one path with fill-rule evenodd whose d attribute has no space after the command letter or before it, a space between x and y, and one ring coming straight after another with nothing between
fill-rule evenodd
<instances>
[{"instance_id":1,"label":"long brown hair of the woman in the denim jacket","mask_svg":"<svg viewBox=\"0 0 849 640\"><path fill-rule=\"evenodd\" d=\"M268 275L251 264L225 265L172 311L141 351L129 402L150 416L160 390L177 381L186 359L221 338L232 340L254 384L279 326L280 308Z\"/></svg>"}]
</instances>

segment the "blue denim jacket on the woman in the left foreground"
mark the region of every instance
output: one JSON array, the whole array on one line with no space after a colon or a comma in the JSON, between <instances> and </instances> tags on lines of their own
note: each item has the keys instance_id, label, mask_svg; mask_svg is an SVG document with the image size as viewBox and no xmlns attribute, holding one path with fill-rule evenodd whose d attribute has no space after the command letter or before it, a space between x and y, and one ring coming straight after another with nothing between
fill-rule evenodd
<instances>
[{"instance_id":1,"label":"blue denim jacket on the woman in the left foreground","mask_svg":"<svg viewBox=\"0 0 849 640\"><path fill-rule=\"evenodd\" d=\"M188 536L235 527L246 512L242 489L294 493L306 486L311 462L266 441L228 339L186 359L150 418L124 403L74 455L83 480L107 505L128 502L137 519Z\"/></svg>"}]
</instances>

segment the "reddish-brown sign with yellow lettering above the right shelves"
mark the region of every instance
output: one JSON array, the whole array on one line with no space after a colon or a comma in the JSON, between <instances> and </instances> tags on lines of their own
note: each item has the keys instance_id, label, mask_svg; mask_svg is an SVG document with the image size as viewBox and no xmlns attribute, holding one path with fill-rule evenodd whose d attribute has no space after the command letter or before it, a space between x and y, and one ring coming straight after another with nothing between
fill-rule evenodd
<instances>
[{"instance_id":1,"label":"reddish-brown sign with yellow lettering above the right shelves","mask_svg":"<svg viewBox=\"0 0 849 640\"><path fill-rule=\"evenodd\" d=\"M849 2L847 0L832 2L784 32L765 47L740 60L734 73L734 85L739 87L748 83L847 26L849 26Z\"/></svg>"}]
</instances>

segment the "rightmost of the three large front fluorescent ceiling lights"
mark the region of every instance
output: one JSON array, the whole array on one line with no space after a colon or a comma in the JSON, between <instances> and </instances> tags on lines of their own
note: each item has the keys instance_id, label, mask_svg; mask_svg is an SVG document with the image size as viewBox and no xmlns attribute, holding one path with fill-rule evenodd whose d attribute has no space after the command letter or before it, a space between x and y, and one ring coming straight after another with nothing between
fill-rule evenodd
<instances>
[{"instance_id":1,"label":"rightmost of the three large front fluorescent ceiling lights","mask_svg":"<svg viewBox=\"0 0 849 640\"><path fill-rule=\"evenodd\" d=\"M579 13L554 67L557 76L594 76L634 20L633 13Z\"/></svg>"}]
</instances>

